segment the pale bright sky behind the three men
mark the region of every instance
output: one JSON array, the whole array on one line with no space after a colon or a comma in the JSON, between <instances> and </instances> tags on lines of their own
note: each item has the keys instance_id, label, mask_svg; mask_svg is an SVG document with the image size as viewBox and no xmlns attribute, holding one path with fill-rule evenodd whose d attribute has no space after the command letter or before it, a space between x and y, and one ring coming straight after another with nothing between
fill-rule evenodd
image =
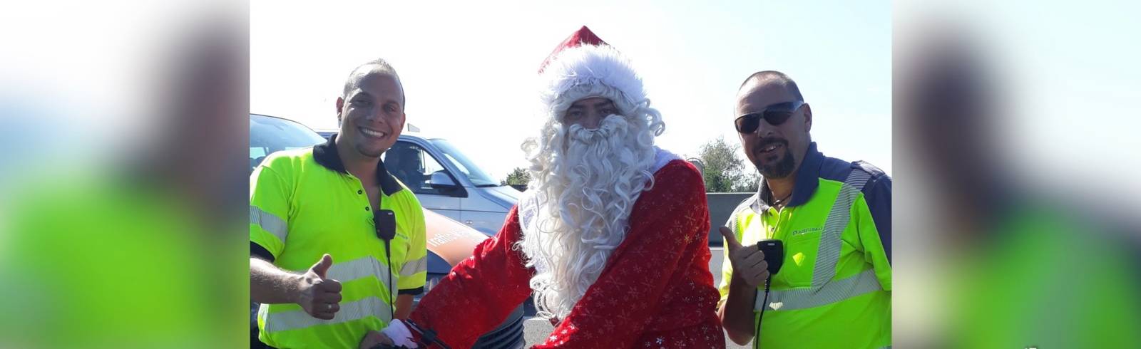
<instances>
[{"instance_id":1,"label":"pale bright sky behind the three men","mask_svg":"<svg viewBox=\"0 0 1141 349\"><path fill-rule=\"evenodd\" d=\"M812 106L822 152L892 173L889 1L306 3L250 3L251 113L335 129L349 72L385 58L404 84L407 122L502 179L526 165L519 146L539 131L539 64L586 25L641 74L665 149L696 156L718 137L739 145L737 87L776 70Z\"/></svg>"}]
</instances>

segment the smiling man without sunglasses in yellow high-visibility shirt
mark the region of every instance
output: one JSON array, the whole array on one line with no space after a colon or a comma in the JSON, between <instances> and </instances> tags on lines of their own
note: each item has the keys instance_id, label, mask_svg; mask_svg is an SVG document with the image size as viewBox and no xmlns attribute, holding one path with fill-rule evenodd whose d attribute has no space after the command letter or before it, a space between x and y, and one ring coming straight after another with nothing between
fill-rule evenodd
<instances>
[{"instance_id":1,"label":"smiling man without sunglasses in yellow high-visibility shirt","mask_svg":"<svg viewBox=\"0 0 1141 349\"><path fill-rule=\"evenodd\" d=\"M380 159L404 128L404 102L388 63L361 65L337 99L339 135L274 153L250 176L250 293L262 303L262 342L372 347L370 331L412 311L427 276L423 211Z\"/></svg>"}]
</instances>

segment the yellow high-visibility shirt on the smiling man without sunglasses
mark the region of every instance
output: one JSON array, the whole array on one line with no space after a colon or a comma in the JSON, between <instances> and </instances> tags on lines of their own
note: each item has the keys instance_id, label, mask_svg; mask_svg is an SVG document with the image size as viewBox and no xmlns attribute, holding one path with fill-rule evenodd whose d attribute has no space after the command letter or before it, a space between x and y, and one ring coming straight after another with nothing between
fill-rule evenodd
<instances>
[{"instance_id":1,"label":"yellow high-visibility shirt on the smiling man without sunglasses","mask_svg":"<svg viewBox=\"0 0 1141 349\"><path fill-rule=\"evenodd\" d=\"M315 318L296 303L261 305L262 342L277 348L356 348L367 331L388 325L398 293L423 292L428 250L420 202L385 170L383 162L377 173L380 206L396 213L391 265L377 234L369 195L361 180L345 170L333 139L274 153L254 169L251 253L269 254L275 266L294 271L307 270L329 253L333 266L326 277L343 286L340 311L331 320Z\"/></svg>"}]
</instances>

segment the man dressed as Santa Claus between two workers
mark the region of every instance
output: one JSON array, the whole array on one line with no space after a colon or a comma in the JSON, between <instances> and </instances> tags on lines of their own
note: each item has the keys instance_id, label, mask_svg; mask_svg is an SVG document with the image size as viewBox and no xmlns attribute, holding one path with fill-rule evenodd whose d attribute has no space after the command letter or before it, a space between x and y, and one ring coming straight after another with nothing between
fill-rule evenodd
<instances>
[{"instance_id":1,"label":"man dressed as Santa Claus between two workers","mask_svg":"<svg viewBox=\"0 0 1141 349\"><path fill-rule=\"evenodd\" d=\"M470 347L534 294L536 348L723 348L701 173L654 146L661 114L585 26L540 68L529 188L494 238L367 341ZM362 343L363 346L365 343Z\"/></svg>"}]
</instances>

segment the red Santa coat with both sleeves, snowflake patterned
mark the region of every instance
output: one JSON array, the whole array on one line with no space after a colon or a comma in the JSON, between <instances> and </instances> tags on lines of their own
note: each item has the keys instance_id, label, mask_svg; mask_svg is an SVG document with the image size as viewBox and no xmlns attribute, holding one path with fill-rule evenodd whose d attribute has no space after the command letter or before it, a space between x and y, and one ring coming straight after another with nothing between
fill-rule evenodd
<instances>
[{"instance_id":1,"label":"red Santa coat with both sleeves, snowflake patterned","mask_svg":"<svg viewBox=\"0 0 1141 349\"><path fill-rule=\"evenodd\" d=\"M673 160L630 212L606 268L547 341L533 348L725 348L709 270L709 209L701 173ZM531 295L534 269L516 243L518 206L503 228L412 313L452 348L468 348Z\"/></svg>"}]
</instances>

